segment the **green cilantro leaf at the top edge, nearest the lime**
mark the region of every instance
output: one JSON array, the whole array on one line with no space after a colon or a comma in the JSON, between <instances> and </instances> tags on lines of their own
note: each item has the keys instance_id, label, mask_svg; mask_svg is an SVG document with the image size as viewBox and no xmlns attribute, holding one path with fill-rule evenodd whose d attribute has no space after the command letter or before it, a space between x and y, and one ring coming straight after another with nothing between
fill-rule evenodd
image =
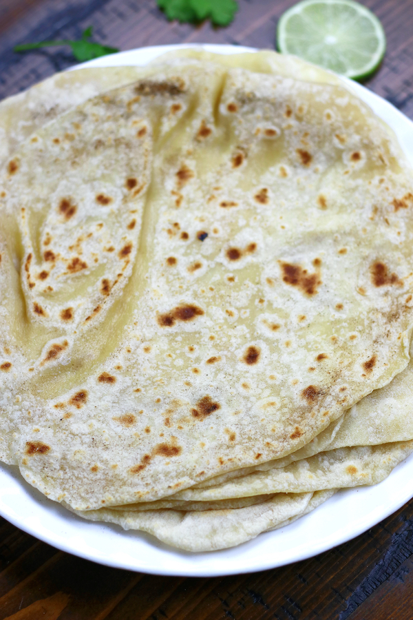
<instances>
[{"instance_id":1,"label":"green cilantro leaf at the top edge, nearest the lime","mask_svg":"<svg viewBox=\"0 0 413 620\"><path fill-rule=\"evenodd\" d=\"M214 25L226 26L233 21L238 5L235 0L156 0L167 19L198 23L211 19Z\"/></svg>"}]
</instances>

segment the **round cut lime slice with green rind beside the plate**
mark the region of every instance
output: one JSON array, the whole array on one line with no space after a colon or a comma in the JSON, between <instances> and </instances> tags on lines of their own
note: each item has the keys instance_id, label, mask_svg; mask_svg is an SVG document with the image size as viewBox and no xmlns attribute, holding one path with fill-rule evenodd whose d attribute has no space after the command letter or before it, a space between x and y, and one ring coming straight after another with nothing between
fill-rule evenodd
<instances>
[{"instance_id":1,"label":"round cut lime slice with green rind beside the plate","mask_svg":"<svg viewBox=\"0 0 413 620\"><path fill-rule=\"evenodd\" d=\"M352 0L303 0L277 25L277 48L353 79L365 79L385 53L383 26Z\"/></svg>"}]
</instances>

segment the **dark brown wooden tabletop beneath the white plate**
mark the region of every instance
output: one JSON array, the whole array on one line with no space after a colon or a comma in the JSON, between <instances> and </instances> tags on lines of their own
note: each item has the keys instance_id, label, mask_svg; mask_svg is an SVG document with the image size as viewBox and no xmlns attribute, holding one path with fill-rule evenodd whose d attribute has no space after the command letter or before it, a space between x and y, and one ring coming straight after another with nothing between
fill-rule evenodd
<instances>
[{"instance_id":1,"label":"dark brown wooden tabletop beneath the white plate","mask_svg":"<svg viewBox=\"0 0 413 620\"><path fill-rule=\"evenodd\" d=\"M369 88L413 118L413 1L366 0L388 52ZM0 0L0 98L73 63L67 48L14 45L79 37L121 50L162 43L274 46L291 0L240 0L229 28L169 23L155 0ZM284 568L214 579L98 566L0 519L0 620L412 620L413 500L365 534Z\"/></svg>"}]
</instances>

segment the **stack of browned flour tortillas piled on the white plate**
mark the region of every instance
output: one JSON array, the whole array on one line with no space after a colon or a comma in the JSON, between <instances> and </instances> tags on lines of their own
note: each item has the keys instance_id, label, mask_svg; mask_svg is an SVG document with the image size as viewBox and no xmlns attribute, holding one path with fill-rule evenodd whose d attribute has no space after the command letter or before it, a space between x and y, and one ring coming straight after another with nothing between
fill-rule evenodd
<instances>
[{"instance_id":1,"label":"stack of browned flour tortillas piled on the white plate","mask_svg":"<svg viewBox=\"0 0 413 620\"><path fill-rule=\"evenodd\" d=\"M413 183L332 74L186 51L0 105L0 458L191 551L413 450Z\"/></svg>"}]
</instances>

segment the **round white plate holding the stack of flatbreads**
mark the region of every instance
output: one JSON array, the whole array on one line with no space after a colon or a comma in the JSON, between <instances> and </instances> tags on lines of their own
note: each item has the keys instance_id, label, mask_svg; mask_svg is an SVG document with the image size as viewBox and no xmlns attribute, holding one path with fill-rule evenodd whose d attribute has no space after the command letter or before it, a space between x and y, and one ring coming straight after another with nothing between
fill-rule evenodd
<instances>
[{"instance_id":1,"label":"round white plate holding the stack of flatbreads","mask_svg":"<svg viewBox=\"0 0 413 620\"><path fill-rule=\"evenodd\" d=\"M145 65L189 45L165 45L104 56L88 66ZM193 47L193 46L191 46ZM219 54L251 52L230 45L195 45ZM84 66L84 65L81 65ZM76 67L77 68L77 67ZM413 164L413 123L390 103L351 82L357 94L392 127ZM368 530L413 497L413 455L377 486L341 490L295 523L232 549L209 553L175 550L150 535L85 521L28 485L15 467L0 469L0 515L61 550L107 566L155 575L213 577L283 566L326 551Z\"/></svg>"}]
</instances>

